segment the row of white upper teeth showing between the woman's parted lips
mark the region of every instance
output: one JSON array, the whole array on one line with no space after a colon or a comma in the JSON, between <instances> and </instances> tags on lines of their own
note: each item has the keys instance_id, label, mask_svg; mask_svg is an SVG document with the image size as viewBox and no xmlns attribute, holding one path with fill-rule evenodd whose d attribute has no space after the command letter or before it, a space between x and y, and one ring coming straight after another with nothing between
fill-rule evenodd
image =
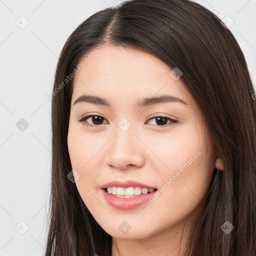
<instances>
[{"instance_id":1,"label":"row of white upper teeth showing between the woman's parted lips","mask_svg":"<svg viewBox=\"0 0 256 256\"><path fill-rule=\"evenodd\" d=\"M142 188L142 187L107 187L103 188L107 193L116 196L116 197L123 197L123 198L130 198L130 197L136 197L143 194L149 194L154 191L156 191L156 188Z\"/></svg>"}]
</instances>

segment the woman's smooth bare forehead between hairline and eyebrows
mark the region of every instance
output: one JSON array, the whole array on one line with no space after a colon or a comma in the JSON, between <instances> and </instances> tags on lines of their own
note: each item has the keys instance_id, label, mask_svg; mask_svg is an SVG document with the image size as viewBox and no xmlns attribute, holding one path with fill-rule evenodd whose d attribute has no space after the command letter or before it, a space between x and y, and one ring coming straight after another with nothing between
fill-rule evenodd
<instances>
[{"instance_id":1,"label":"woman's smooth bare forehead between hairline and eyebrows","mask_svg":"<svg viewBox=\"0 0 256 256\"><path fill-rule=\"evenodd\" d=\"M113 45L103 45L97 50L80 70L77 69L71 104L83 93L120 103L127 98L137 103L140 98L169 94L182 98L189 105L193 103L183 81L174 80L169 74L172 68L156 56ZM93 49L81 61L91 52Z\"/></svg>"}]
</instances>

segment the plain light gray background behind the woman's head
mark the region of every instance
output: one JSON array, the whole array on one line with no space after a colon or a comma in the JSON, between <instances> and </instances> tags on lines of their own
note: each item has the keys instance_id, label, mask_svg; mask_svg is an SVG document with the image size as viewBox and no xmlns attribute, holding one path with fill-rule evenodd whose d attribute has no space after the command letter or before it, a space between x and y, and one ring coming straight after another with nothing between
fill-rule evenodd
<instances>
[{"instance_id":1,"label":"plain light gray background behind the woman's head","mask_svg":"<svg viewBox=\"0 0 256 256\"><path fill-rule=\"evenodd\" d=\"M94 12L119 2L0 0L0 256L43 255L51 161L46 94L68 35ZM256 0L196 2L234 21L230 30L255 84ZM28 123L23 131L16 126L21 118Z\"/></svg>"}]
</instances>

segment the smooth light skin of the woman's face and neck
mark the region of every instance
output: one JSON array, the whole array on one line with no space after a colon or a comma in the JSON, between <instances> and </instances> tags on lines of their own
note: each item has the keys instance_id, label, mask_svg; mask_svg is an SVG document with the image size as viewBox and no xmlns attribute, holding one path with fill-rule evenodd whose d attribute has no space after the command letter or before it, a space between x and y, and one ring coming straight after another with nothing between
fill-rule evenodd
<instances>
[{"instance_id":1,"label":"smooth light skin of the woman's face and neck","mask_svg":"<svg viewBox=\"0 0 256 256\"><path fill-rule=\"evenodd\" d=\"M97 49L75 75L71 97L67 143L78 192L98 224L113 237L112 256L182 255L213 169L222 170L222 160L186 85L169 75L172 67L140 50L112 45ZM88 102L73 105L83 93L103 97L111 107ZM163 94L188 104L137 107L138 100ZM87 118L94 125L88 127L78 121L87 114L103 120ZM150 119L159 115L178 123ZM122 118L131 124L127 131L118 127ZM161 189L197 151L200 155L153 202L121 210L105 201L102 184L132 179ZM126 233L118 228L123 221L131 227Z\"/></svg>"}]
</instances>

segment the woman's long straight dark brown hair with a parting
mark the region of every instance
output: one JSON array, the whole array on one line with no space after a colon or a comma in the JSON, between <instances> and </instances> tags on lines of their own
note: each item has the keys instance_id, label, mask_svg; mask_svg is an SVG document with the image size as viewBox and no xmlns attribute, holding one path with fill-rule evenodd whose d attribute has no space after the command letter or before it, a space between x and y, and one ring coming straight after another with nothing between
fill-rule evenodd
<instances>
[{"instance_id":1,"label":"woman's long straight dark brown hair with a parting","mask_svg":"<svg viewBox=\"0 0 256 256\"><path fill-rule=\"evenodd\" d=\"M88 17L60 53L51 102L52 177L45 256L111 255L112 237L67 178L72 169L67 132L73 79L56 90L84 54L106 43L140 49L178 67L203 113L211 142L224 159L224 171L213 171L185 255L256 255L256 100L244 55L229 29L198 3L131 0ZM220 228L225 221L234 226L229 234Z\"/></svg>"}]
</instances>

